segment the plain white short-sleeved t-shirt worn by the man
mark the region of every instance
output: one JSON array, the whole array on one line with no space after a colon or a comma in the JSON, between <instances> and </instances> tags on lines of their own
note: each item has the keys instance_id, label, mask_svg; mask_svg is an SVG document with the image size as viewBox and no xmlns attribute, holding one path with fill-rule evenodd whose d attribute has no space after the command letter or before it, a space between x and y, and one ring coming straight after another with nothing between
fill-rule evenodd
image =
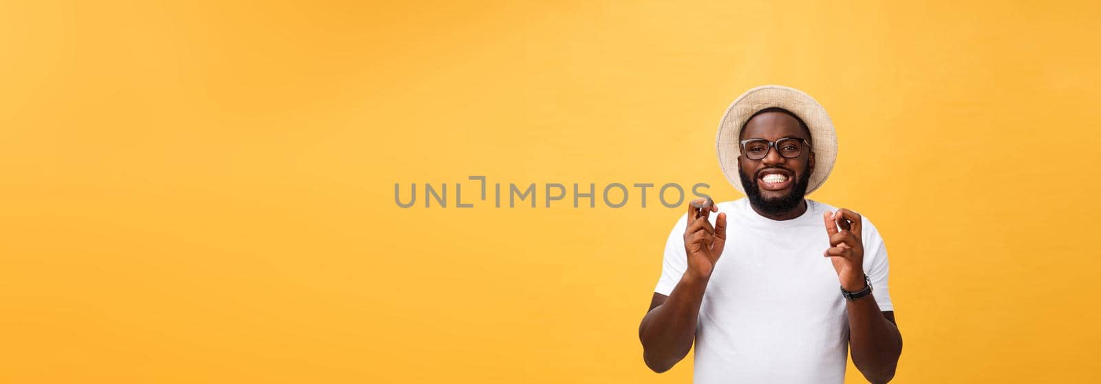
<instances>
[{"instance_id":1,"label":"plain white short-sleeved t-shirt worn by the man","mask_svg":"<svg viewBox=\"0 0 1101 384\"><path fill-rule=\"evenodd\" d=\"M849 316L830 259L822 212L836 208L807 199L791 220L756 213L749 199L718 205L727 213L727 245L711 273L696 328L695 382L842 383ZM718 217L711 212L713 224ZM665 243L654 292L668 296L687 267L687 215ZM864 272L880 310L894 310L887 292L887 252L862 219Z\"/></svg>"}]
</instances>

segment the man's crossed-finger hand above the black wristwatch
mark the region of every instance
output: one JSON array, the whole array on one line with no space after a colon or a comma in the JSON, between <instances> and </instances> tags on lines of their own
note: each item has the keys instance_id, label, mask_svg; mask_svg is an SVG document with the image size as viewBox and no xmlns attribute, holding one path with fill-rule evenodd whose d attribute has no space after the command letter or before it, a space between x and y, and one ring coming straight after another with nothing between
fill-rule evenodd
<instances>
[{"instance_id":1,"label":"man's crossed-finger hand above the black wristwatch","mask_svg":"<svg viewBox=\"0 0 1101 384\"><path fill-rule=\"evenodd\" d=\"M864 288L864 245L860 241L860 215L841 208L822 215L830 248L822 256L830 257L841 287L848 292Z\"/></svg>"}]
</instances>

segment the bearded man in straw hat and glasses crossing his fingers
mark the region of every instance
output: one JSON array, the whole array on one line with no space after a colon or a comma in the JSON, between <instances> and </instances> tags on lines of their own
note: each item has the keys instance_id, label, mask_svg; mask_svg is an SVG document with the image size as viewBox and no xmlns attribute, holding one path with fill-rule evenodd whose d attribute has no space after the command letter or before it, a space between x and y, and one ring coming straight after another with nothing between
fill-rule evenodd
<instances>
[{"instance_id":1,"label":"bearded man in straw hat and glasses crossing his fingers","mask_svg":"<svg viewBox=\"0 0 1101 384\"><path fill-rule=\"evenodd\" d=\"M664 372L695 341L696 383L842 383L849 348L865 378L891 381L902 334L883 240L859 213L804 198L837 156L825 109L757 87L727 110L716 145L746 198L696 200L669 233L639 328L646 365Z\"/></svg>"}]
</instances>

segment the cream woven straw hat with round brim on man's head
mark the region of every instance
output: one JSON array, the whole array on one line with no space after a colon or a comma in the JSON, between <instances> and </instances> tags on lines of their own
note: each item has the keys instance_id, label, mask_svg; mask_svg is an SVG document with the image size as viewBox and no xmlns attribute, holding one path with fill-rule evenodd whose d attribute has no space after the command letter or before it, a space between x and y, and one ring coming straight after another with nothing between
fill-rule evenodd
<instances>
[{"instance_id":1,"label":"cream woven straw hat with round brim on man's head","mask_svg":"<svg viewBox=\"0 0 1101 384\"><path fill-rule=\"evenodd\" d=\"M761 86L739 96L719 122L719 133L715 139L715 150L719 155L719 166L727 175L727 180L742 194L742 179L738 175L738 155L741 145L738 135L742 124L753 113L770 107L780 107L792 111L810 129L811 150L815 152L815 171L807 184L807 195L826 183L829 173L833 171L837 161L837 133L833 122L826 114L826 109L818 101L802 90L784 86Z\"/></svg>"}]
</instances>

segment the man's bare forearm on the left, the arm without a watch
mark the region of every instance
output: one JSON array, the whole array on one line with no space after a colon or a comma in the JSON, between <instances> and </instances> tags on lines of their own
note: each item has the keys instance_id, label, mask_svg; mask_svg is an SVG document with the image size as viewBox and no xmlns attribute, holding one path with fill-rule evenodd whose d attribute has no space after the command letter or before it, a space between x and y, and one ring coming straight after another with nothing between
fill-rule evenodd
<instances>
[{"instance_id":1,"label":"man's bare forearm on the left, the arm without a watch","mask_svg":"<svg viewBox=\"0 0 1101 384\"><path fill-rule=\"evenodd\" d=\"M654 372L668 371L691 350L707 278L685 274L669 297L642 319L643 360Z\"/></svg>"}]
</instances>

